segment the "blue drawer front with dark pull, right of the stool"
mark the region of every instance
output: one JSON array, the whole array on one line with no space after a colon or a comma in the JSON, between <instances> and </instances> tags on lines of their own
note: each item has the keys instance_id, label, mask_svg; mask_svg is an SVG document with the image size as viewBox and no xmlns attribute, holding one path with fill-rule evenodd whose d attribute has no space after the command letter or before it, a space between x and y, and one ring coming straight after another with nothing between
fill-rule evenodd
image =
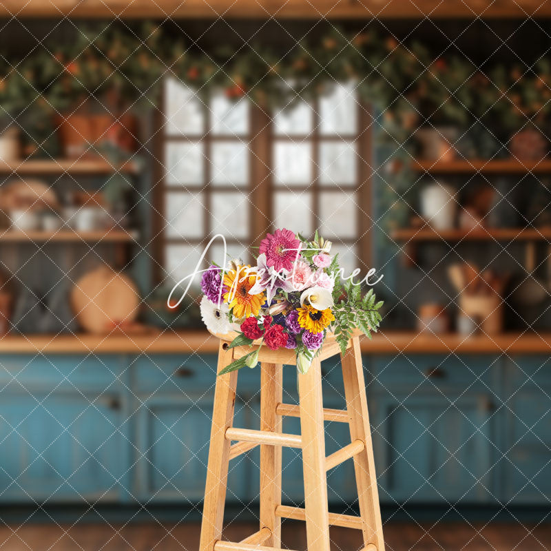
<instances>
[{"instance_id":1,"label":"blue drawer front with dark pull, right of the stool","mask_svg":"<svg viewBox=\"0 0 551 551\"><path fill-rule=\"evenodd\" d=\"M373 377L375 384L383 386L423 384L428 389L433 388L433 384L476 385L480 381L488 382L492 370L497 367L497 357L490 355L386 355L373 358Z\"/></svg>"}]
</instances>

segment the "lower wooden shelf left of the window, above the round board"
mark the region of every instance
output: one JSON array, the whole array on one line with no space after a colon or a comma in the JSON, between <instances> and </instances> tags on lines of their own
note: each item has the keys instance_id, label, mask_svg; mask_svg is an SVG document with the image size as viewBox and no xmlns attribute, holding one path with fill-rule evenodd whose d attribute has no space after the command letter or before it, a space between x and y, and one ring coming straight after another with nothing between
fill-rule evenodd
<instances>
[{"instance_id":1,"label":"lower wooden shelf left of the window, above the round board","mask_svg":"<svg viewBox=\"0 0 551 551\"><path fill-rule=\"evenodd\" d=\"M102 229L98 231L72 231L70 229L59 231L14 231L6 230L0 233L0 242L24 243L24 242L133 242L138 238L136 231L123 231Z\"/></svg>"}]
</instances>

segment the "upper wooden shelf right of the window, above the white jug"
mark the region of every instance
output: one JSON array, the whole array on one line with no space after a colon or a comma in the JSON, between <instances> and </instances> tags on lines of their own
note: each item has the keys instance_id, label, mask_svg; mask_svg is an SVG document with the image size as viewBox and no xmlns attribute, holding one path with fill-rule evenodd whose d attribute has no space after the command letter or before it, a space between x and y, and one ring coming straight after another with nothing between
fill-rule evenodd
<instances>
[{"instance_id":1,"label":"upper wooden shelf right of the window, above the white jug","mask_svg":"<svg viewBox=\"0 0 551 551\"><path fill-rule=\"evenodd\" d=\"M551 159L541 161L498 160L415 160L413 169L430 174L551 174Z\"/></svg>"}]
</instances>

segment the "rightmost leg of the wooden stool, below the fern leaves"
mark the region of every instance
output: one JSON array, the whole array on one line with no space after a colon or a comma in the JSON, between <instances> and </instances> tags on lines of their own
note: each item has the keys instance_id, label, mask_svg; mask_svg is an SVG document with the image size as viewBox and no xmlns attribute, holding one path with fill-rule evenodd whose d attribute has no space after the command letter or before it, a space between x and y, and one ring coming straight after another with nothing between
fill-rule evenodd
<instances>
[{"instance_id":1,"label":"rightmost leg of the wooden stool, below the fern leaves","mask_svg":"<svg viewBox=\"0 0 551 551\"><path fill-rule=\"evenodd\" d=\"M341 363L346 409L350 420L350 436L352 441L360 439L365 444L364 451L354 457L364 545L367 546L369 543L373 543L377 551L384 551L379 492L377 490L377 477L375 476L362 353L358 337L353 338L351 348L346 351L344 356L341 355Z\"/></svg>"}]
</instances>

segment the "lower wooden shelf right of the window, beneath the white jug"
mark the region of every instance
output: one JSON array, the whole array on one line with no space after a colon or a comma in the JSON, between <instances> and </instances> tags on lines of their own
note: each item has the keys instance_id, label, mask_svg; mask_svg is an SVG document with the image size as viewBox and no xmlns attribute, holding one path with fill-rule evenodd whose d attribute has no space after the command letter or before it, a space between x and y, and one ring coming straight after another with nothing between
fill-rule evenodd
<instances>
[{"instance_id":1,"label":"lower wooden shelf right of the window, beneath the white jug","mask_svg":"<svg viewBox=\"0 0 551 551\"><path fill-rule=\"evenodd\" d=\"M402 228L392 232L395 241L543 241L551 240L551 228L488 228L435 230L430 227Z\"/></svg>"}]
</instances>

